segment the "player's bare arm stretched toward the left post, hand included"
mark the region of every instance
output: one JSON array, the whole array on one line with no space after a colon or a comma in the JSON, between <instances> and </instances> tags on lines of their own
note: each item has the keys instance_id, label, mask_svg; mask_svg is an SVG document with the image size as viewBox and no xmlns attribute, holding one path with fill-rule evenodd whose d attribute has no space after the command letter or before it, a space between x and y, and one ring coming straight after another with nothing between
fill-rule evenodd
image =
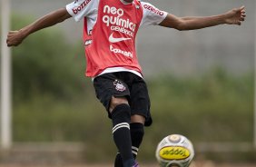
<instances>
[{"instance_id":1,"label":"player's bare arm stretched toward the left post, hand included","mask_svg":"<svg viewBox=\"0 0 256 167\"><path fill-rule=\"evenodd\" d=\"M7 35L6 43L8 46L17 46L21 44L29 34L33 34L43 28L61 23L70 17L71 15L69 15L65 8L58 9L48 15L44 15L31 25L27 25L17 31L10 31Z\"/></svg>"}]
</instances>

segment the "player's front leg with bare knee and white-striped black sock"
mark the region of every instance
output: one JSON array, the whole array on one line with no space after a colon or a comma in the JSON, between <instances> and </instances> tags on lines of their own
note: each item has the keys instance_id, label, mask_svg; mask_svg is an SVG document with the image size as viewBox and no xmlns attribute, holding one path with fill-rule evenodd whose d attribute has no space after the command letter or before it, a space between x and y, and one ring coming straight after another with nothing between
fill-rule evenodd
<instances>
[{"instance_id":1,"label":"player's front leg with bare knee and white-striped black sock","mask_svg":"<svg viewBox=\"0 0 256 167\"><path fill-rule=\"evenodd\" d=\"M132 167L135 164L135 160L131 149L131 108L125 101L125 103L120 102L122 102L121 99L113 98L110 105L113 121L113 140L121 154L123 167Z\"/></svg>"}]
</instances>

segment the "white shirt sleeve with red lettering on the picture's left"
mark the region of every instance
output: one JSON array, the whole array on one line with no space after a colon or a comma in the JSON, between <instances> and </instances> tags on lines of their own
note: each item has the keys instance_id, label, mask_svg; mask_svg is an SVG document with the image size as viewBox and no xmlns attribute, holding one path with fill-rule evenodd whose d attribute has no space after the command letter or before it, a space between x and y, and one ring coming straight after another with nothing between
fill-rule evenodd
<instances>
[{"instance_id":1,"label":"white shirt sleeve with red lettering on the picture's left","mask_svg":"<svg viewBox=\"0 0 256 167\"><path fill-rule=\"evenodd\" d=\"M95 7L98 6L99 0L75 0L65 6L67 12L74 17L76 22L79 22L84 16L91 15Z\"/></svg>"}]
</instances>

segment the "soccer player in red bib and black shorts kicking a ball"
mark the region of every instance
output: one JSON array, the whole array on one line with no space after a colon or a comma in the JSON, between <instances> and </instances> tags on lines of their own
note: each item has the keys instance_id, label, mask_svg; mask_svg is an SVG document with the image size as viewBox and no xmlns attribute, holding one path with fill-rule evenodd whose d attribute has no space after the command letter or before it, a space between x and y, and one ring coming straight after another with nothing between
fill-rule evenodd
<instances>
[{"instance_id":1,"label":"soccer player in red bib and black shorts kicking a ball","mask_svg":"<svg viewBox=\"0 0 256 167\"><path fill-rule=\"evenodd\" d=\"M115 167L139 166L135 162L143 141L143 128L152 124L150 99L135 51L140 27L161 25L193 30L215 25L241 25L244 6L222 15L178 17L139 0L75 0L31 25L10 31L8 46L21 44L36 31L74 17L84 20L86 76L92 77L97 98L113 123L118 152Z\"/></svg>"}]
</instances>

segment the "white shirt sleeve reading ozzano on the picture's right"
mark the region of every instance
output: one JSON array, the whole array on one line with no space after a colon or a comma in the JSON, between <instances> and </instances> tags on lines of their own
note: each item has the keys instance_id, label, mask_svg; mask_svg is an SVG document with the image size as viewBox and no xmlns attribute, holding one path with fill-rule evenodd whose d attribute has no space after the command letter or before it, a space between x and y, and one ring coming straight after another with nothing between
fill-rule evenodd
<instances>
[{"instance_id":1,"label":"white shirt sleeve reading ozzano on the picture's right","mask_svg":"<svg viewBox=\"0 0 256 167\"><path fill-rule=\"evenodd\" d=\"M167 12L159 10L150 3L142 2L143 6L143 19L141 26L145 25L159 25L167 16Z\"/></svg>"}]
</instances>

